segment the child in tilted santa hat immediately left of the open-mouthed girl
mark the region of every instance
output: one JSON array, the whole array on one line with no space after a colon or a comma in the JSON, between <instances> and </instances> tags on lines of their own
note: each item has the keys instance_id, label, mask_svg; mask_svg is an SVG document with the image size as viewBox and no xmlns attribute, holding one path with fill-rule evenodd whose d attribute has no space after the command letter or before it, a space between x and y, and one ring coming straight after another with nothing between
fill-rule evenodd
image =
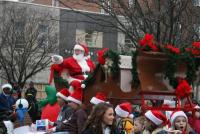
<instances>
[{"instance_id":1,"label":"child in tilted santa hat immediately left of the open-mouthed girl","mask_svg":"<svg viewBox=\"0 0 200 134\"><path fill-rule=\"evenodd\" d=\"M167 122L166 116L158 110L148 110L145 114L146 122L145 129L146 133L150 134L167 134L167 131L163 130Z\"/></svg>"}]
</instances>

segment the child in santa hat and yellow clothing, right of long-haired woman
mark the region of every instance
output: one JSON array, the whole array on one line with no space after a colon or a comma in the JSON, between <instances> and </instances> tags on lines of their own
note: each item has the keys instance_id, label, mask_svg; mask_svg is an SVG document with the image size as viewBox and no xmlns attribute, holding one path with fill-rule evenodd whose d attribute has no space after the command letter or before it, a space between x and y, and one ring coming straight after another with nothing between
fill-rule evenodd
<instances>
[{"instance_id":1,"label":"child in santa hat and yellow clothing, right of long-haired woman","mask_svg":"<svg viewBox=\"0 0 200 134\"><path fill-rule=\"evenodd\" d=\"M132 106L129 102L124 102L115 108L117 115L117 127L121 134L131 134L133 132Z\"/></svg>"}]
</instances>

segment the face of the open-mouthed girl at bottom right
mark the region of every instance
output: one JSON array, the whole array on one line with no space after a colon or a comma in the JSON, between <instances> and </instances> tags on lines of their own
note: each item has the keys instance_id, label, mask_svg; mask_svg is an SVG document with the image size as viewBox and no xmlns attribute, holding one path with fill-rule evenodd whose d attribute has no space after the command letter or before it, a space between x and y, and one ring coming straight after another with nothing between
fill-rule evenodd
<instances>
[{"instance_id":1,"label":"face of the open-mouthed girl at bottom right","mask_svg":"<svg viewBox=\"0 0 200 134\"><path fill-rule=\"evenodd\" d=\"M183 116L179 116L174 121L176 130L185 131L187 126L187 120Z\"/></svg>"}]
</instances>

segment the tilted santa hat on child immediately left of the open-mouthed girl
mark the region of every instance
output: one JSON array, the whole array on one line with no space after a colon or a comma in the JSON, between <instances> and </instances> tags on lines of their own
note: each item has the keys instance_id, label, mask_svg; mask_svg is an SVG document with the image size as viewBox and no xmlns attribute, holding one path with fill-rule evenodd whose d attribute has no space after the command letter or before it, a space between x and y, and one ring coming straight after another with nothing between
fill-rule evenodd
<instances>
[{"instance_id":1,"label":"tilted santa hat on child immediately left of the open-mouthed girl","mask_svg":"<svg viewBox=\"0 0 200 134\"><path fill-rule=\"evenodd\" d=\"M166 123L167 121L166 116L161 111L148 110L144 115L157 126Z\"/></svg>"}]
</instances>

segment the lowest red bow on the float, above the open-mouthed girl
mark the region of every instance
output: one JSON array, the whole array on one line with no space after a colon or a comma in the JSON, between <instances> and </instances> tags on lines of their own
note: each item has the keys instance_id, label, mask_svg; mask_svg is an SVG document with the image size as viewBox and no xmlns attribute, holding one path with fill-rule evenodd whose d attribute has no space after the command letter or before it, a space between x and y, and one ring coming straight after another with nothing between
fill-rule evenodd
<instances>
[{"instance_id":1,"label":"lowest red bow on the float, above the open-mouthed girl","mask_svg":"<svg viewBox=\"0 0 200 134\"><path fill-rule=\"evenodd\" d=\"M176 96L180 98L184 98L190 95L192 88L188 84L186 80L179 80L179 84L176 87Z\"/></svg>"}]
</instances>

